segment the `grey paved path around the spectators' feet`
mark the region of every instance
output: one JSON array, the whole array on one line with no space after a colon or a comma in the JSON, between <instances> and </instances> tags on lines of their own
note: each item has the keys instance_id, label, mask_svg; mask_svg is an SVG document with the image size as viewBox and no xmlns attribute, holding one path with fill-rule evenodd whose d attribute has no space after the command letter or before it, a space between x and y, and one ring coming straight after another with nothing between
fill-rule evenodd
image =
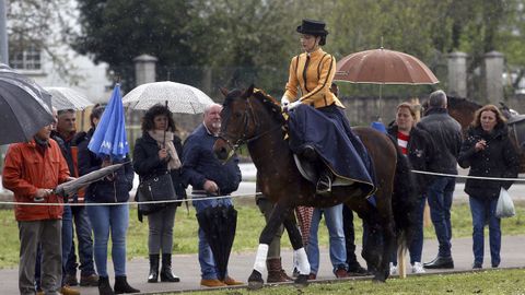
<instances>
[{"instance_id":1,"label":"grey paved path around the spectators' feet","mask_svg":"<svg viewBox=\"0 0 525 295\"><path fill-rule=\"evenodd\" d=\"M502 238L501 248L501 268L516 268L525 267L525 251L523 245L525 244L525 236L504 236ZM471 269L472 252L471 252L471 239L470 238L457 238L452 241L452 252L455 263L455 269L451 271L466 271ZM358 247L358 251L361 249ZM429 261L434 258L438 251L438 245L434 239L427 239L423 248L423 261ZM318 280L331 280L335 279L331 273L330 260L327 249L322 249L320 252L320 269L317 275ZM490 267L490 253L488 249L488 241L486 241L486 262L485 268ZM255 253L232 253L230 259L230 274L240 281L246 281L254 263ZM283 266L287 272L290 273L292 266L292 251L282 251ZM362 264L363 260L359 258ZM143 293L155 292L180 292L189 290L202 288L199 285L200 271L198 267L198 260L196 255L179 255L173 258L174 273L180 276L179 283L147 283L147 275L149 264L147 259L133 259L128 261L128 281L133 287L141 290ZM112 269L110 263L108 263ZM443 271L429 271L429 272L443 272ZM113 273L110 270L109 273ZM264 275L266 278L266 274ZM114 278L110 278L112 284ZM1 294L18 294L18 269L4 269L0 270L0 286ZM98 294L96 287L79 287L83 295Z\"/></svg>"}]
</instances>

